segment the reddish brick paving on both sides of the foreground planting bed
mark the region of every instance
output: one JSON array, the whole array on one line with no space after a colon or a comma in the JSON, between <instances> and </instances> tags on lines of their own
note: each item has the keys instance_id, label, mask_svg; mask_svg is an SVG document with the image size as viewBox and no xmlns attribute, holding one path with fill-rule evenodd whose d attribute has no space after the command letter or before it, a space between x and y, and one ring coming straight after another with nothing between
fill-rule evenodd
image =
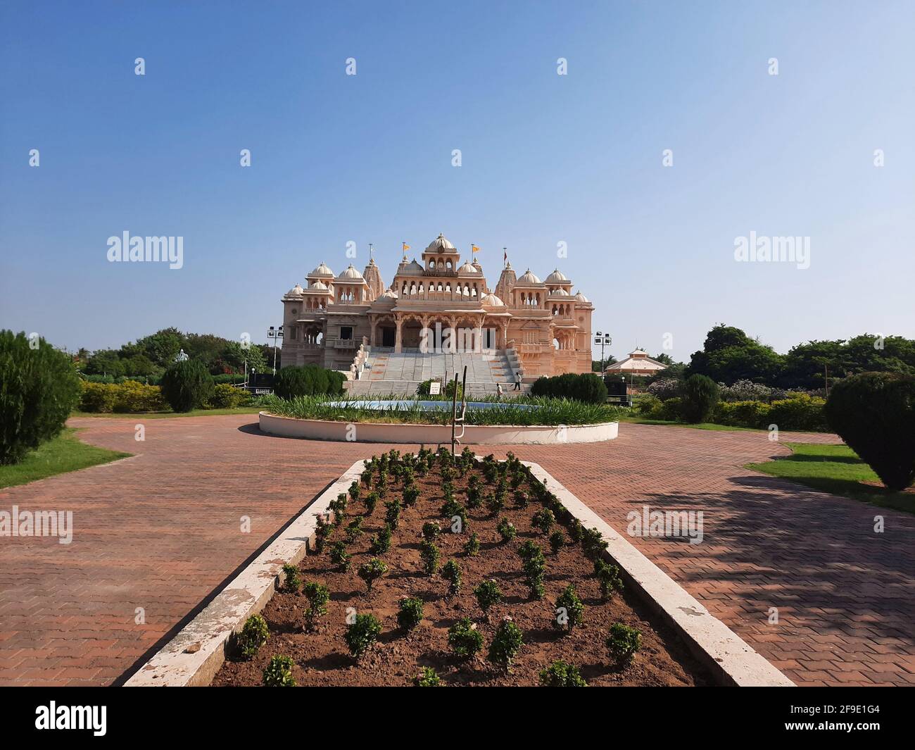
<instances>
[{"instance_id":1,"label":"reddish brick paving on both sides of the foreground planting bed","mask_svg":"<svg viewBox=\"0 0 915 750\"><path fill-rule=\"evenodd\" d=\"M70 545L0 539L0 684L116 682L329 481L386 450L264 436L251 415L149 419L135 442L136 421L72 422L134 458L0 490L0 509L72 510L75 527ZM784 451L764 433L630 424L608 443L516 449L619 531L644 504L704 511L701 545L634 542L796 682L915 684L915 516L742 468Z\"/></svg>"}]
</instances>

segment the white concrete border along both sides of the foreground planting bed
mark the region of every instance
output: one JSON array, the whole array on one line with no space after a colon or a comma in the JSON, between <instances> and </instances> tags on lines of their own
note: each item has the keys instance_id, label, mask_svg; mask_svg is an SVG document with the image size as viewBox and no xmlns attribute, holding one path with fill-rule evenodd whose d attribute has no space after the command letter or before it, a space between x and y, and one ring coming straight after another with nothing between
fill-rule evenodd
<instances>
[{"instance_id":1,"label":"white concrete border along both sides of the foreground planting bed","mask_svg":"<svg viewBox=\"0 0 915 750\"><path fill-rule=\"evenodd\" d=\"M606 557L619 565L631 590L671 625L703 666L722 685L793 687L740 636L716 619L683 587L623 538L538 463L522 462L587 528L596 527L608 541ZM283 565L302 560L314 540L317 516L360 478L357 461L285 528L283 533L235 577L177 636L159 649L124 687L192 687L209 685L225 661L234 633L264 609L283 577Z\"/></svg>"}]
</instances>

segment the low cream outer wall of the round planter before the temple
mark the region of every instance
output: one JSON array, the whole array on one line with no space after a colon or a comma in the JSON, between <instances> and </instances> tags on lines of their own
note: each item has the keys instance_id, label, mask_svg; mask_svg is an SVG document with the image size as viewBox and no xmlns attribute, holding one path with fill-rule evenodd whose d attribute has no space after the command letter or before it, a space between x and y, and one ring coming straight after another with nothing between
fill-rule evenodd
<instances>
[{"instance_id":1,"label":"low cream outer wall of the round planter before the temple","mask_svg":"<svg viewBox=\"0 0 915 750\"><path fill-rule=\"evenodd\" d=\"M416 425L403 422L332 422L294 419L260 413L261 431L285 438L338 440L339 442L450 443L450 425ZM594 425L521 426L467 425L461 445L548 445L569 442L602 442L617 437L619 422ZM460 427L458 426L458 434Z\"/></svg>"}]
</instances>

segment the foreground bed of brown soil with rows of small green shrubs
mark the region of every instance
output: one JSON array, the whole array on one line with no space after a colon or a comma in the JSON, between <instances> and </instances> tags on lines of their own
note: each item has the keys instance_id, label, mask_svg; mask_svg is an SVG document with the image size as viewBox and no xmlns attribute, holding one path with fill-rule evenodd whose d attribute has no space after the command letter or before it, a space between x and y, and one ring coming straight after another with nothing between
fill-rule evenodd
<instances>
[{"instance_id":1,"label":"foreground bed of brown soil with rows of small green shrubs","mask_svg":"<svg viewBox=\"0 0 915 750\"><path fill-rule=\"evenodd\" d=\"M392 451L361 480L213 685L711 681L513 457Z\"/></svg>"}]
</instances>

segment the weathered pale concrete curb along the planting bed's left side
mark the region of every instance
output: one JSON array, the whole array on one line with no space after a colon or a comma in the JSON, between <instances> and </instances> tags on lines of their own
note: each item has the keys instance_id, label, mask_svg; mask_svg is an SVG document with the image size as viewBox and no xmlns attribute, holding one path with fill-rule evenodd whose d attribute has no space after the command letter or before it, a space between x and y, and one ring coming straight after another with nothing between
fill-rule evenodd
<instances>
[{"instance_id":1,"label":"weathered pale concrete curb along the planting bed's left side","mask_svg":"<svg viewBox=\"0 0 915 750\"><path fill-rule=\"evenodd\" d=\"M225 661L232 634L259 613L274 595L287 562L305 557L317 526L317 516L353 481L364 462L357 461L310 503L269 547L239 573L177 636L149 659L124 687L194 687L209 685Z\"/></svg>"}]
</instances>

